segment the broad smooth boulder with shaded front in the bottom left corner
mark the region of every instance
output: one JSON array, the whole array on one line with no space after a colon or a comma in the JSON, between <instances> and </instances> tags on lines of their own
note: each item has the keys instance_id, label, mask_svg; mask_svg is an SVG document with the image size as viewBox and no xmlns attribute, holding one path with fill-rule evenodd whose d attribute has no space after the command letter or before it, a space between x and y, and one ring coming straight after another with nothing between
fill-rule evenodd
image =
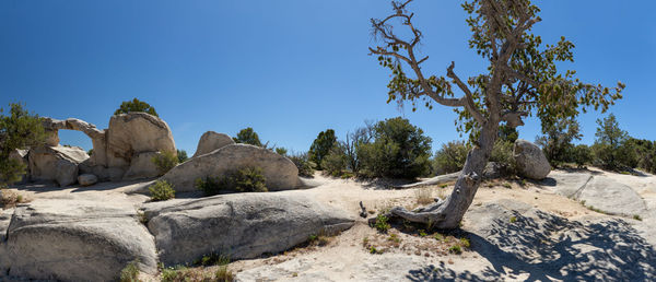
<instances>
[{"instance_id":1,"label":"broad smooth boulder with shaded front in the bottom left corner","mask_svg":"<svg viewBox=\"0 0 656 282\"><path fill-rule=\"evenodd\" d=\"M134 260L154 274L153 237L137 218L131 203L39 199L16 208L0 255L9 260L9 275L21 279L118 281Z\"/></svg>"}]
</instances>

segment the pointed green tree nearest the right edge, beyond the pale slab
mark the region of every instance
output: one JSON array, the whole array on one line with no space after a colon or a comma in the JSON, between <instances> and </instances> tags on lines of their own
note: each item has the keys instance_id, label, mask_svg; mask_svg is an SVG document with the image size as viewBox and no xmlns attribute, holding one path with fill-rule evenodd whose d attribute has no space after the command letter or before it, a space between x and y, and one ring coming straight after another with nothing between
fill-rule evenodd
<instances>
[{"instance_id":1,"label":"pointed green tree nearest the right edge, beyond the pale slab","mask_svg":"<svg viewBox=\"0 0 656 282\"><path fill-rule=\"evenodd\" d=\"M626 143L629 133L620 128L616 116L610 114L604 119L597 119L597 126L594 152L600 165L608 169L633 167L635 152Z\"/></svg>"}]
</instances>

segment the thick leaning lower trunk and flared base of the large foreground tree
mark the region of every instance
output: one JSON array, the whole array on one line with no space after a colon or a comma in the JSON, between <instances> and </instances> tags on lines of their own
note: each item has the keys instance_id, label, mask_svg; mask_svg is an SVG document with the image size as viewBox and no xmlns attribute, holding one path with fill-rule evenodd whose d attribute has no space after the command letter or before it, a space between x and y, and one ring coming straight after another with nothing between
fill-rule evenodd
<instances>
[{"instance_id":1,"label":"thick leaning lower trunk and flared base of the large foreground tree","mask_svg":"<svg viewBox=\"0 0 656 282\"><path fill-rule=\"evenodd\" d=\"M408 211L403 207L395 207L386 215L427 224L432 228L457 228L483 179L483 169L496 141L497 131L499 119L489 120L482 127L479 142L469 151L465 167L456 181L454 190L446 200L435 199L437 202L413 211Z\"/></svg>"}]
</instances>

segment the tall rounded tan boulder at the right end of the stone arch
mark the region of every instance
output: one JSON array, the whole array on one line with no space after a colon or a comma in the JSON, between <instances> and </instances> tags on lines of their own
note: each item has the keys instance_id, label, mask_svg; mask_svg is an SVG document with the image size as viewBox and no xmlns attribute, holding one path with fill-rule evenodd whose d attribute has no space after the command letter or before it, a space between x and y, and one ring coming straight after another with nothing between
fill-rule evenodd
<instances>
[{"instance_id":1,"label":"tall rounded tan boulder at the right end of the stone arch","mask_svg":"<svg viewBox=\"0 0 656 282\"><path fill-rule=\"evenodd\" d=\"M145 113L112 116L107 130L107 166L129 167L144 152L176 152L168 125Z\"/></svg>"}]
</instances>

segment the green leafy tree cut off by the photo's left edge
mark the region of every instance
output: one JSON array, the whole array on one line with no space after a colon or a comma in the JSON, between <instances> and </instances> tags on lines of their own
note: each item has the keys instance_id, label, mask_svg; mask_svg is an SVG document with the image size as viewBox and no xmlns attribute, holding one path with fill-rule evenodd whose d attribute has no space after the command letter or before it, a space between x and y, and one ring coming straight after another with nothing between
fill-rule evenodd
<instances>
[{"instance_id":1,"label":"green leafy tree cut off by the photo's left edge","mask_svg":"<svg viewBox=\"0 0 656 282\"><path fill-rule=\"evenodd\" d=\"M10 157L16 149L37 146L45 142L46 133L38 115L30 114L21 104L10 104L7 115L0 109L0 187L21 180L27 166Z\"/></svg>"}]
</instances>

